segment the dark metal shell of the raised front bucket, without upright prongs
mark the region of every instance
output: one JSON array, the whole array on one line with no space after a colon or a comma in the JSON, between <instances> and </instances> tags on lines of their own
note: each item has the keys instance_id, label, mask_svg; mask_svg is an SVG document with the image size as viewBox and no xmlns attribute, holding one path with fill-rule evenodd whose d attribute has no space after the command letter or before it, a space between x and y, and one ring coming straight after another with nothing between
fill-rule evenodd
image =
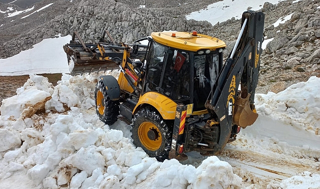
<instances>
[{"instance_id":1,"label":"dark metal shell of the raised front bucket, without upright prongs","mask_svg":"<svg viewBox=\"0 0 320 189\"><path fill-rule=\"evenodd\" d=\"M100 52L96 52L96 49L88 48L86 51L80 44L66 44L63 49L67 54L71 75L107 71L118 67L112 60L99 59L97 53L100 55Z\"/></svg>"}]
</instances>

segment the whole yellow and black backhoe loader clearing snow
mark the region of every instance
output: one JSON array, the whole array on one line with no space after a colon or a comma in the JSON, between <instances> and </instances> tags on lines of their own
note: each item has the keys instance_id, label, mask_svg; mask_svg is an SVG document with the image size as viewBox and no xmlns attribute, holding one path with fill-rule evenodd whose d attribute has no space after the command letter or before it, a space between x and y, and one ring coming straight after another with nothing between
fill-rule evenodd
<instances>
[{"instance_id":1,"label":"whole yellow and black backhoe loader clearing snow","mask_svg":"<svg viewBox=\"0 0 320 189\"><path fill-rule=\"evenodd\" d=\"M98 43L84 43L75 32L63 48L71 74L121 71L96 84L101 121L131 124L133 143L150 157L184 160L190 151L221 153L258 117L264 14L245 11L241 25L225 63L225 42L196 31L153 32L132 44L115 43L106 30Z\"/></svg>"}]
</instances>

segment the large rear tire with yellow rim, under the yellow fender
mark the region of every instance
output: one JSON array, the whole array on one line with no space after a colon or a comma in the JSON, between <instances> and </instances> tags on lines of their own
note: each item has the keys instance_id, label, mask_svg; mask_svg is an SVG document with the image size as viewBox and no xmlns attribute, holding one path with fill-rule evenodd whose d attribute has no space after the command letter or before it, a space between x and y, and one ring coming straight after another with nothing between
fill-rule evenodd
<instances>
[{"instance_id":1,"label":"large rear tire with yellow rim, under the yellow fender","mask_svg":"<svg viewBox=\"0 0 320 189\"><path fill-rule=\"evenodd\" d=\"M143 108L132 118L132 139L150 157L164 161L169 157L173 124L166 122L153 108Z\"/></svg>"}]
</instances>

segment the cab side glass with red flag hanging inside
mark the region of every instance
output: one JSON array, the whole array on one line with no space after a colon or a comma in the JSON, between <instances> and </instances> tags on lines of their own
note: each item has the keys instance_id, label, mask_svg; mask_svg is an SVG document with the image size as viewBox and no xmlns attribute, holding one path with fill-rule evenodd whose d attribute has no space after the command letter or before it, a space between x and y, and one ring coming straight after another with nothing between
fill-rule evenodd
<instances>
[{"instance_id":1,"label":"cab side glass with red flag hanging inside","mask_svg":"<svg viewBox=\"0 0 320 189\"><path fill-rule=\"evenodd\" d=\"M144 93L159 92L174 101L190 97L190 52L153 42Z\"/></svg>"}]
</instances>

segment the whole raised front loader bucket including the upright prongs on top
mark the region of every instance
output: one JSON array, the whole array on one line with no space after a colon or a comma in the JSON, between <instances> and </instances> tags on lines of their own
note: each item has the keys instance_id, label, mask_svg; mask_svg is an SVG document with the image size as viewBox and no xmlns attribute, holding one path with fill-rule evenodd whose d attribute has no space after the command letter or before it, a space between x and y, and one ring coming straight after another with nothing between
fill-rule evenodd
<instances>
[{"instance_id":1,"label":"whole raised front loader bucket including the upright prongs on top","mask_svg":"<svg viewBox=\"0 0 320 189\"><path fill-rule=\"evenodd\" d=\"M107 33L109 35L109 33ZM104 39L105 32L100 39L101 42L96 44L84 43L77 32L74 32L70 43L63 46L64 52L67 54L69 71L71 75L91 73L98 71L107 71L117 68L119 62L122 61L123 53L119 53L125 47L121 45L108 43ZM75 40L75 36L78 40ZM111 59L106 56L112 54L113 57L119 54L119 57Z\"/></svg>"}]
</instances>

